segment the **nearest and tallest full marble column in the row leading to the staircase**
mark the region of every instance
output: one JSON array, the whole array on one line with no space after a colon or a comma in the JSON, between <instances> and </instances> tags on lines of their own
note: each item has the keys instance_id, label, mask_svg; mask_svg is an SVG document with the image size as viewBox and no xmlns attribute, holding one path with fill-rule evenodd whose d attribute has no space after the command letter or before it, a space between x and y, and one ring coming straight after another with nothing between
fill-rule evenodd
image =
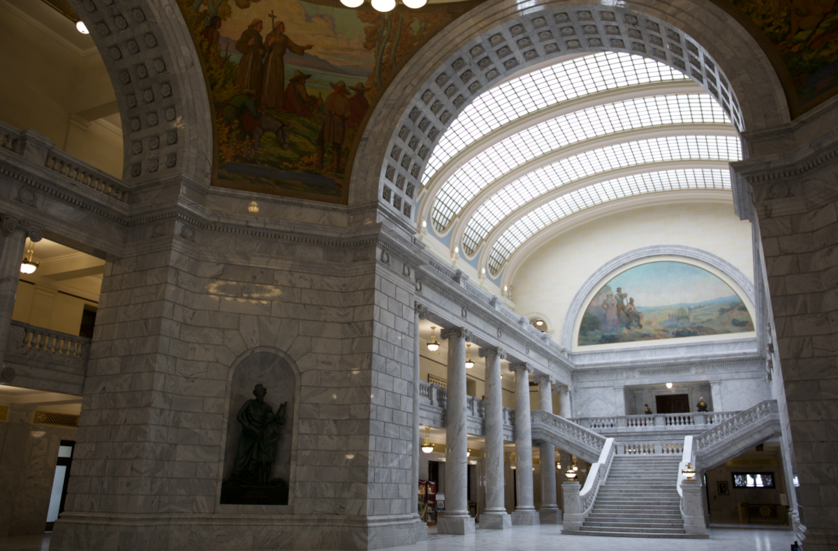
<instances>
[{"instance_id":1,"label":"nearest and tallest full marble column in the row leading to the staircase","mask_svg":"<svg viewBox=\"0 0 838 551\"><path fill-rule=\"evenodd\" d=\"M448 341L448 388L445 409L445 514L437 520L437 533L474 533L468 515L468 396L466 395L466 341L472 335L465 327L442 329Z\"/></svg>"}]
</instances>

